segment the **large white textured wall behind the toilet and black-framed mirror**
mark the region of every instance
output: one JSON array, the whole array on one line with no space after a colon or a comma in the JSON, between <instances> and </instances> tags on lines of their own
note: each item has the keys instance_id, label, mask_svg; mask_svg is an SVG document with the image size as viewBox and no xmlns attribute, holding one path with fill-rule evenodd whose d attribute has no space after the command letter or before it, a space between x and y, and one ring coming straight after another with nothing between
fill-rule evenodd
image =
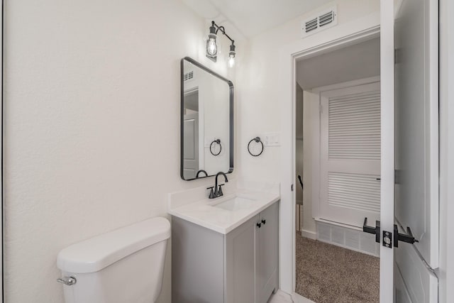
<instances>
[{"instance_id":1,"label":"large white textured wall behind the toilet and black-framed mirror","mask_svg":"<svg viewBox=\"0 0 454 303\"><path fill-rule=\"evenodd\" d=\"M6 302L61 303L62 248L213 181L179 177L179 60L232 75L178 0L6 1L5 22Z\"/></svg>"}]
</instances>

